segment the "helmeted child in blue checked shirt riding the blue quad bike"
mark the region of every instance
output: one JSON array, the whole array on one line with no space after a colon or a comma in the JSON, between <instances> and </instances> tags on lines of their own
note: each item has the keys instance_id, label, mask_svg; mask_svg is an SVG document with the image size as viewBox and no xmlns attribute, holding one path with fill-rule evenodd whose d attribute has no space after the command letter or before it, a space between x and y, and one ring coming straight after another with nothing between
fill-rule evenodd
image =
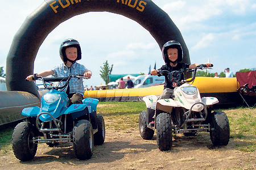
<instances>
[{"instance_id":1,"label":"helmeted child in blue checked shirt riding the blue quad bike","mask_svg":"<svg viewBox=\"0 0 256 170\"><path fill-rule=\"evenodd\" d=\"M81 47L77 40L67 39L61 43L60 58L62 59L63 63L55 66L51 70L43 71L38 75L43 77L48 75L65 77L74 74L83 74L87 78L92 76L92 71L86 69L84 65L76 62L82 58ZM34 75L29 75L26 79L28 81L32 81L33 76ZM84 85L82 84L82 79L72 78L69 82L69 86L65 87L64 91L67 93L71 103L82 103L84 96Z\"/></svg>"}]
</instances>

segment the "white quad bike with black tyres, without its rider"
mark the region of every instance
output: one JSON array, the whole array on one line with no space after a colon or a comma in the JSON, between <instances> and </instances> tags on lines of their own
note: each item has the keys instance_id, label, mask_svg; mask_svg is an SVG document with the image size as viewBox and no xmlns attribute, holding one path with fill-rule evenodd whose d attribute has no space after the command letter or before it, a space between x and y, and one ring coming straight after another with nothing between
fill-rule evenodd
<instances>
[{"instance_id":1,"label":"white quad bike with black tyres, without its rider","mask_svg":"<svg viewBox=\"0 0 256 170\"><path fill-rule=\"evenodd\" d=\"M177 83L171 99L160 99L155 95L143 97L147 110L139 115L139 132L143 139L151 139L156 129L159 150L168 151L172 147L172 133L194 136L197 132L210 132L213 146L228 145L230 138L229 120L222 111L212 112L212 105L218 103L216 97L200 97L196 86L189 84L195 79L197 69L179 71L160 70L160 75L168 75ZM181 80L181 74L193 72L189 80ZM153 122L153 123L152 123Z\"/></svg>"}]
</instances>

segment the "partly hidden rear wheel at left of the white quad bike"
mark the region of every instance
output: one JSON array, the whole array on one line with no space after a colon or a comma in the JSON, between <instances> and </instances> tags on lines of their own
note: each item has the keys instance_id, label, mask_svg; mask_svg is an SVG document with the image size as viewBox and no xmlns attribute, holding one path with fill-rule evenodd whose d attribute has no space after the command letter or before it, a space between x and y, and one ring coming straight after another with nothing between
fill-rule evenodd
<instances>
[{"instance_id":1,"label":"partly hidden rear wheel at left of the white quad bike","mask_svg":"<svg viewBox=\"0 0 256 170\"><path fill-rule=\"evenodd\" d=\"M154 136L154 130L147 128L146 111L139 114L139 133L142 139L150 140Z\"/></svg>"}]
</instances>

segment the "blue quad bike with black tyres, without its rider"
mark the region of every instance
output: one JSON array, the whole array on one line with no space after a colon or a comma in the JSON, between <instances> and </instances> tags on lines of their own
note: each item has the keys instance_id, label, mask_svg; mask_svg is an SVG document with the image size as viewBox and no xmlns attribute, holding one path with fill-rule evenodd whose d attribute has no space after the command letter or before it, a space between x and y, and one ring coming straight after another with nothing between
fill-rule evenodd
<instances>
[{"instance_id":1,"label":"blue quad bike with black tyres, without its rider","mask_svg":"<svg viewBox=\"0 0 256 170\"><path fill-rule=\"evenodd\" d=\"M58 78L34 79L43 81L49 91L42 96L41 107L29 107L22 110L27 116L26 122L20 122L14 128L11 138L13 152L21 161L32 160L39 143L49 147L59 143L73 143L73 150L78 159L90 159L94 145L105 141L104 118L97 114L98 100L86 98L82 104L70 104L68 95L63 91L72 78L85 78L81 75L70 75ZM46 82L59 82L48 86ZM60 86L61 82L64 83ZM60 90L60 91L58 91Z\"/></svg>"}]
</instances>

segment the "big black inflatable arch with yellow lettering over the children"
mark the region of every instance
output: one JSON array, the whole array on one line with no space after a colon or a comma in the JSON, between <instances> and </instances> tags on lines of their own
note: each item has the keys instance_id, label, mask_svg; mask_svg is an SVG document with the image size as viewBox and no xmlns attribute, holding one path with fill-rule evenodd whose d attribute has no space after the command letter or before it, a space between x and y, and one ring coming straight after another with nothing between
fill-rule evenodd
<instances>
[{"instance_id":1,"label":"big black inflatable arch with yellow lettering over the children","mask_svg":"<svg viewBox=\"0 0 256 170\"><path fill-rule=\"evenodd\" d=\"M35 84L25 78L34 73L34 61L40 45L60 23L92 11L112 12L136 21L151 33L160 49L169 40L179 41L184 50L184 62L190 63L179 29L151 0L45 0L27 17L14 36L6 61L7 90L26 91L39 97Z\"/></svg>"}]
</instances>

